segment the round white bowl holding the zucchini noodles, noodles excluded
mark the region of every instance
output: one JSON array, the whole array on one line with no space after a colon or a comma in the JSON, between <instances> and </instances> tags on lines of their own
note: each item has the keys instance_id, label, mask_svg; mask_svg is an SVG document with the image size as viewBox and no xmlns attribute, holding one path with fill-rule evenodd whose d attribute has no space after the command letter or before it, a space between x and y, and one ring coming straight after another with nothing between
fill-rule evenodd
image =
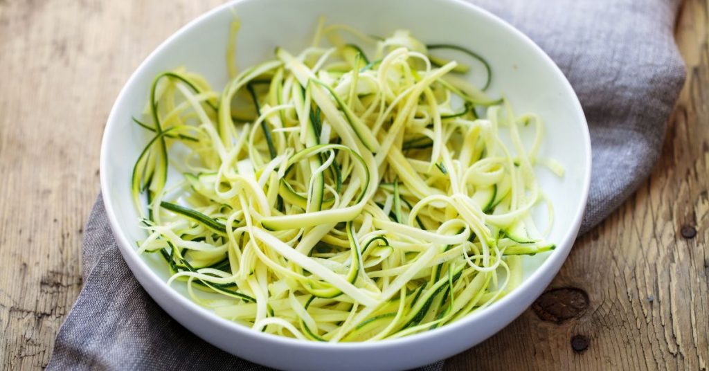
<instances>
[{"instance_id":1,"label":"round white bowl holding the zucchini noodles, noodles excluded","mask_svg":"<svg viewBox=\"0 0 709 371\"><path fill-rule=\"evenodd\" d=\"M493 67L491 94L505 94L515 111L534 111L547 123L542 155L566 167L559 179L539 170L554 204L552 253L526 258L521 287L486 309L434 331L374 343L317 343L259 333L220 319L168 287L167 267L138 255L144 238L130 199L130 174L147 134L130 117L143 112L155 75L174 67L203 74L213 87L227 81L225 45L234 8L242 20L238 65L272 57L277 45L299 51L311 40L318 16L370 34L409 29L426 43L476 50ZM108 117L101 146L101 191L123 258L145 290L197 336L241 358L294 370L399 370L441 360L485 340L519 316L556 275L574 243L591 177L591 141L579 100L562 72L525 35L490 13L457 0L242 0L220 6L167 39L133 73Z\"/></svg>"}]
</instances>

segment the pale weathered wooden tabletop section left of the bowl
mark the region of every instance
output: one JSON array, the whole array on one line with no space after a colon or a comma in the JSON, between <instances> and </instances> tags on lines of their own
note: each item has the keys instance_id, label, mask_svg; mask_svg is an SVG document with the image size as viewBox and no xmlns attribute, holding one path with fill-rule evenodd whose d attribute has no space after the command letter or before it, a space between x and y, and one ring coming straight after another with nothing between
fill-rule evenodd
<instances>
[{"instance_id":1,"label":"pale weathered wooden tabletop section left of the bowl","mask_svg":"<svg viewBox=\"0 0 709 371\"><path fill-rule=\"evenodd\" d=\"M221 2L0 0L0 365L45 366L79 293L118 91L162 40Z\"/></svg>"}]
</instances>

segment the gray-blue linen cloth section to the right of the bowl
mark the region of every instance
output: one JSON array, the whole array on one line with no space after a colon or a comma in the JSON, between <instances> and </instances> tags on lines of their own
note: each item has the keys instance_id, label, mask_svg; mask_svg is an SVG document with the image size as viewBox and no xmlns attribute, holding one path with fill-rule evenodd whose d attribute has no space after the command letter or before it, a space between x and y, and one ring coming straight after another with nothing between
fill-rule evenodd
<instances>
[{"instance_id":1,"label":"gray-blue linen cloth section to the right of the bowl","mask_svg":"<svg viewBox=\"0 0 709 371\"><path fill-rule=\"evenodd\" d=\"M591 192L581 233L649 176L684 83L674 42L681 0L477 0L559 65L591 131Z\"/></svg>"}]
</instances>

